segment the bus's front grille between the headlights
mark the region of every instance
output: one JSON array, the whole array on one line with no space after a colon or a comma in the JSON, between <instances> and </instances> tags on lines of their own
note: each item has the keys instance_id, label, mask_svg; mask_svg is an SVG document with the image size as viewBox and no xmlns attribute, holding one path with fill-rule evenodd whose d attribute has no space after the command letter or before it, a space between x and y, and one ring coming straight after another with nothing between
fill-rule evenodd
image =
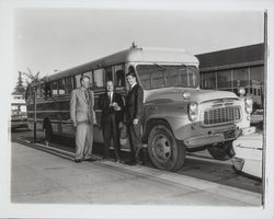
<instances>
[{"instance_id":1,"label":"bus's front grille between the headlights","mask_svg":"<svg viewBox=\"0 0 274 219\"><path fill-rule=\"evenodd\" d=\"M210 108L204 112L204 125L220 125L240 119L240 106Z\"/></svg>"}]
</instances>

